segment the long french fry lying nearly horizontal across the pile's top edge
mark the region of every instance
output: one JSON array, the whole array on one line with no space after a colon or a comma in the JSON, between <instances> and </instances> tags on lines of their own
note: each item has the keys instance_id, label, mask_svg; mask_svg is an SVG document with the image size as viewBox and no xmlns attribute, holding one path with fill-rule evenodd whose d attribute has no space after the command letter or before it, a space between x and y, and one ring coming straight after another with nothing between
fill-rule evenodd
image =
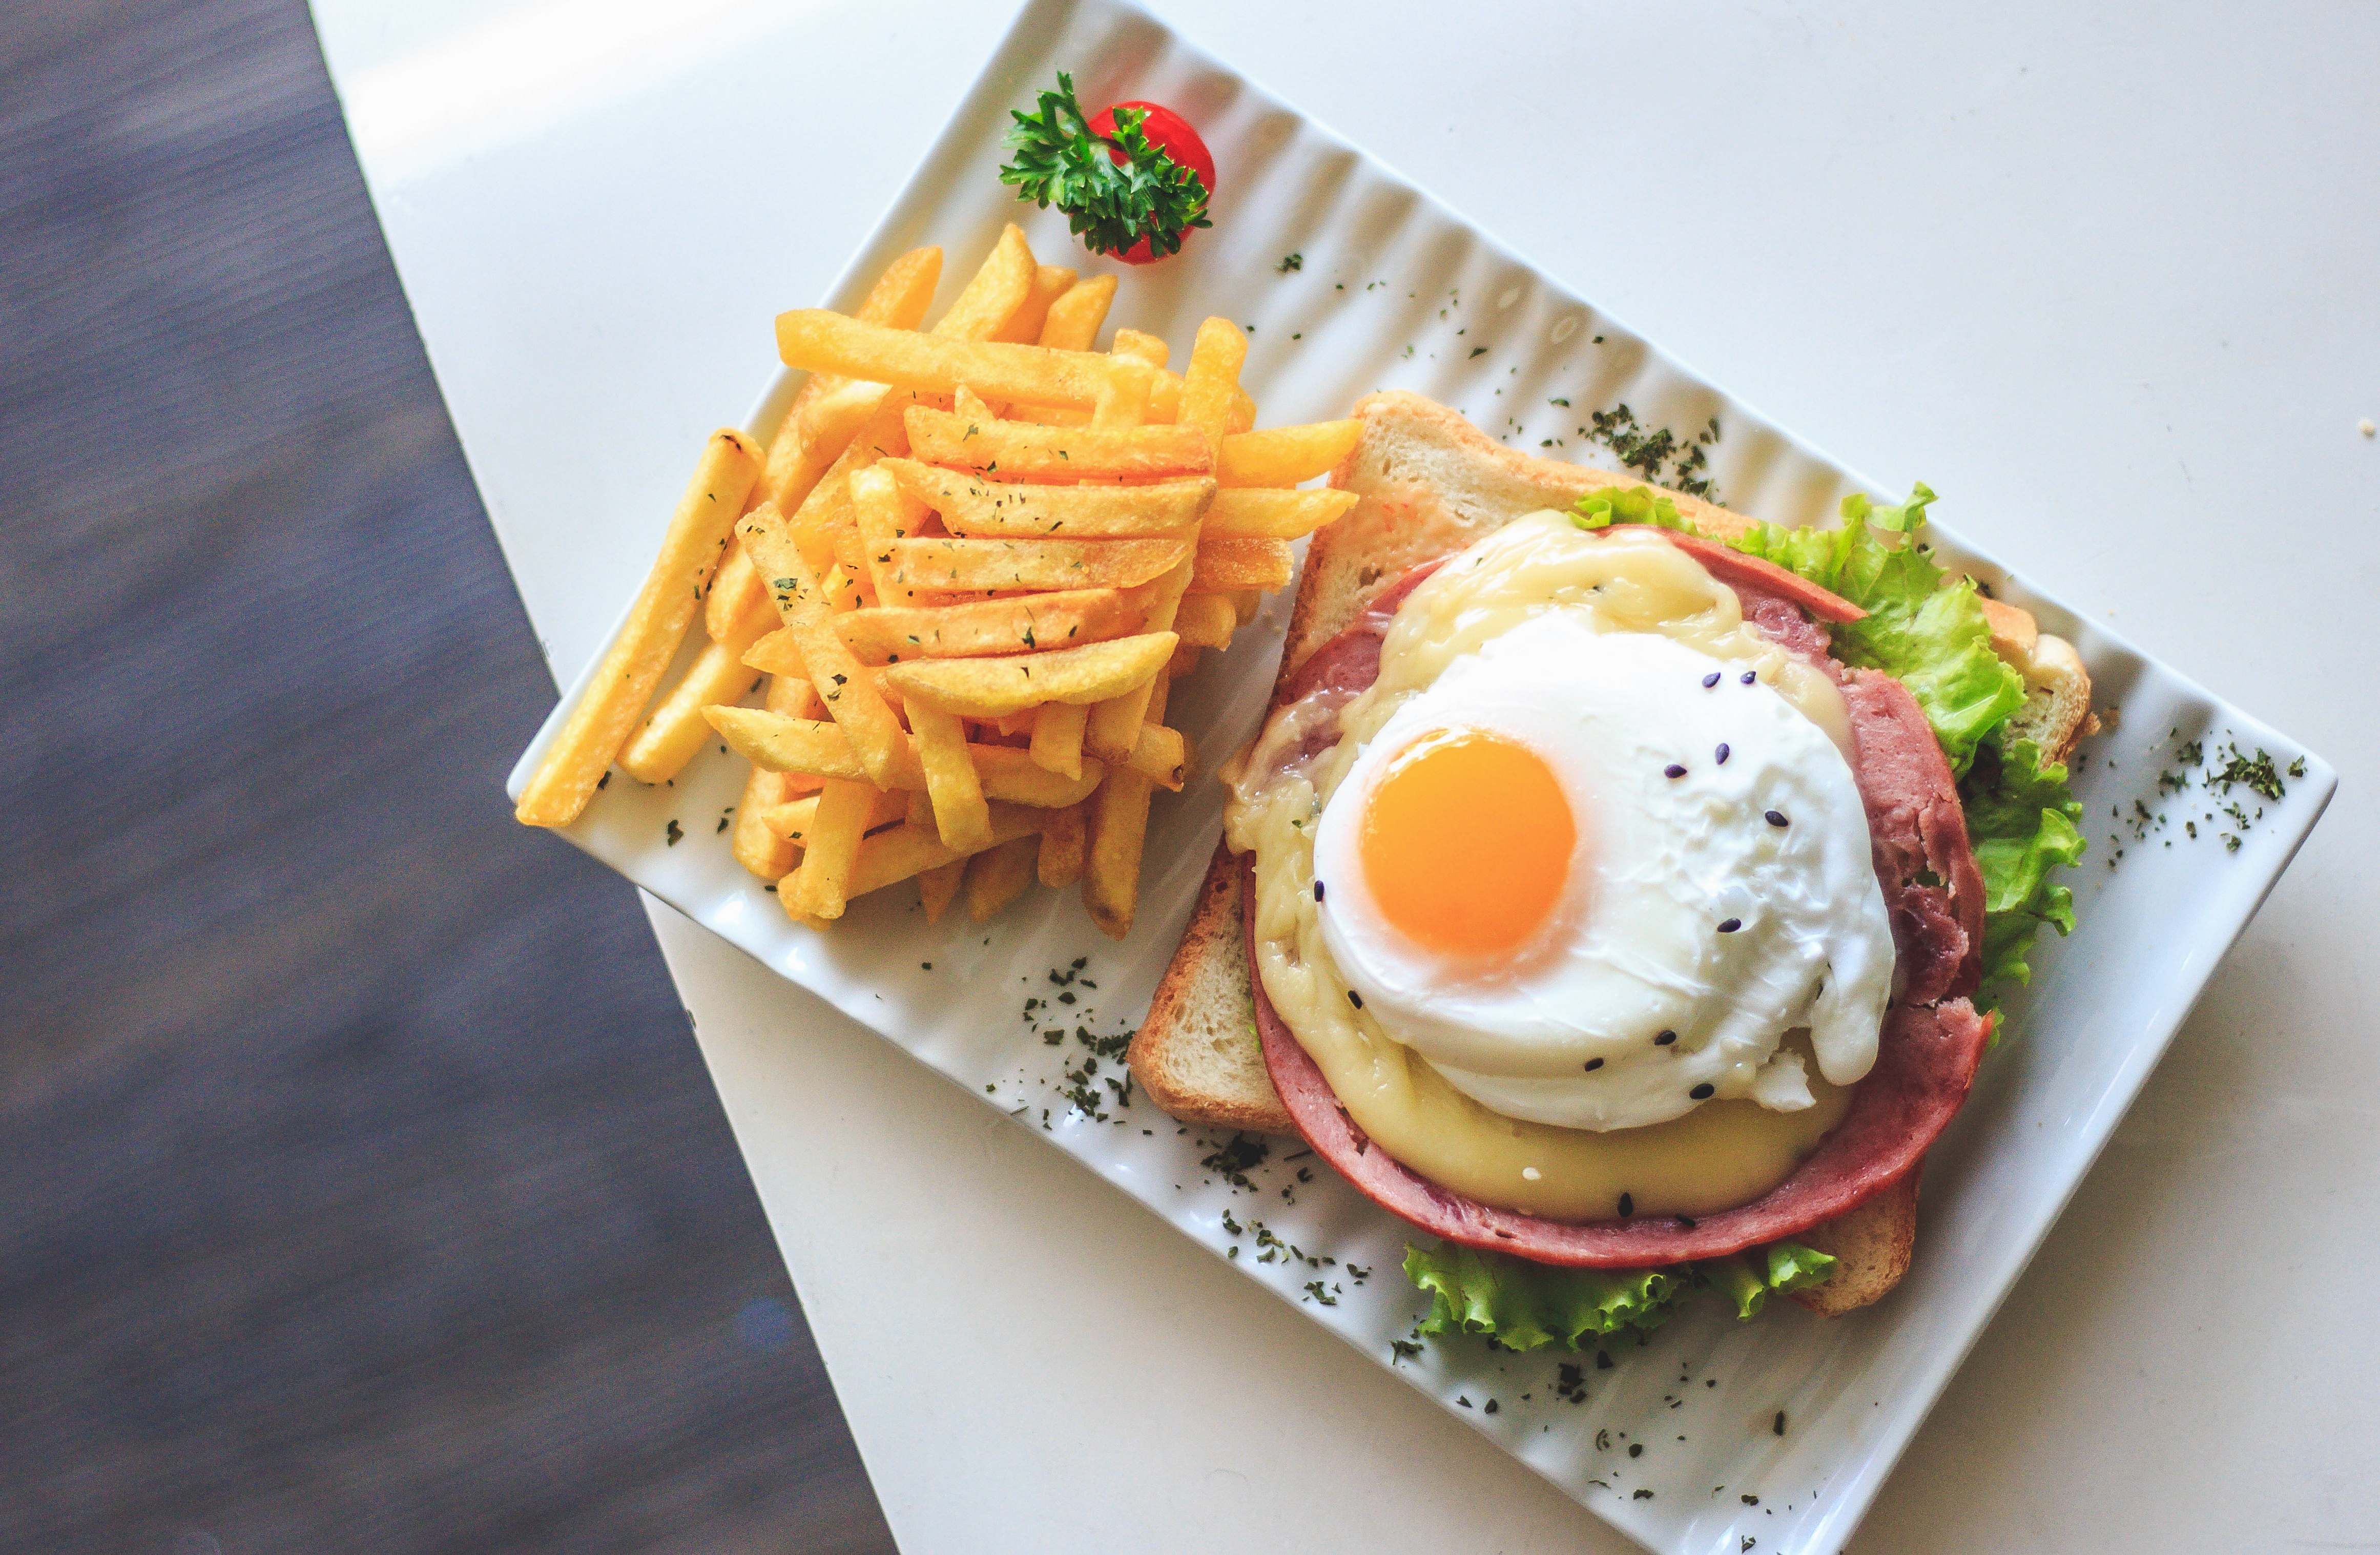
<instances>
[{"instance_id":1,"label":"long french fry lying nearly horizontal across the pile's top edge","mask_svg":"<svg viewBox=\"0 0 2380 1555\"><path fill-rule=\"evenodd\" d=\"M833 371L869 383L952 393L962 383L985 400L1090 410L1114 379L1107 357L1009 341L954 341L862 324L823 307L776 317L785 367Z\"/></svg>"}]
</instances>

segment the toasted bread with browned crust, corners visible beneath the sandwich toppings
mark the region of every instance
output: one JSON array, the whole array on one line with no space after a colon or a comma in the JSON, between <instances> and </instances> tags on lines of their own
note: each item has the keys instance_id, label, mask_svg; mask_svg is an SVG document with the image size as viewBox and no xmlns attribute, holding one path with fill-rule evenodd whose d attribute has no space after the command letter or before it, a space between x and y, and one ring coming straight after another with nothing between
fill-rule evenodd
<instances>
[{"instance_id":1,"label":"toasted bread with browned crust, corners visible beneath the sandwich toppings","mask_svg":"<svg viewBox=\"0 0 2380 1555\"><path fill-rule=\"evenodd\" d=\"M1599 486L1642 483L1516 452L1445 405L1411 393L1366 395L1354 414L1364 436L1330 483L1357 493L1357 505L1319 531L1307 550L1276 693L1411 567L1461 550L1526 512L1568 507ZM1704 533L1735 536L1752 524L1716 502L1668 495ZM1994 650L2033 686L2033 700L2018 714L2028 738L2063 757L2087 731L2090 676L2082 662L2071 645L2040 633L2023 610L1997 600L1987 607ZM1128 1062L1150 1100L1183 1122L1292 1131L1257 1043L1240 864L1223 848L1207 869L1197 912L1133 1036ZM1833 1253L1837 1272L1828 1284L1797 1293L1797 1300L1835 1314L1880 1298L1906 1272L1914 1238L1916 1174L1811 1229L1804 1241Z\"/></svg>"}]
</instances>

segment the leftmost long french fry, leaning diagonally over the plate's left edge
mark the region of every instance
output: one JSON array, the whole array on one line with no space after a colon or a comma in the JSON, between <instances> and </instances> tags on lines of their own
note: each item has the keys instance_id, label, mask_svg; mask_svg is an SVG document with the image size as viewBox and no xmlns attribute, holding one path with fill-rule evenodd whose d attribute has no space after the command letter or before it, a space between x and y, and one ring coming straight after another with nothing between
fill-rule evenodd
<instances>
[{"instance_id":1,"label":"leftmost long french fry, leaning diagonally over the plate's left edge","mask_svg":"<svg viewBox=\"0 0 2380 1555\"><path fill-rule=\"evenodd\" d=\"M759 445L733 429L714 431L704 443L628 622L521 791L514 810L521 824L569 826L595 795L595 783L628 743L638 714L695 622L702 586L759 479L762 460Z\"/></svg>"}]
</instances>

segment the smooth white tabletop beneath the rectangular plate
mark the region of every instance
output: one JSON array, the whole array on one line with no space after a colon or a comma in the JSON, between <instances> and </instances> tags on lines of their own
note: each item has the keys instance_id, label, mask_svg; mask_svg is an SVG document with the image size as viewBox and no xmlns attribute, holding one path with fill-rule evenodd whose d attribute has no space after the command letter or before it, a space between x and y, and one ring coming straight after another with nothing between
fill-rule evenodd
<instances>
[{"instance_id":1,"label":"smooth white tabletop beneath the rectangular plate","mask_svg":"<svg viewBox=\"0 0 2380 1555\"><path fill-rule=\"evenodd\" d=\"M2356 426L2380 417L2380 7L1157 10L2337 764L1852 1548L2380 1548L2380 443ZM314 12L569 679L697 441L774 371L769 319L826 291L1009 7ZM652 917L902 1548L1630 1548Z\"/></svg>"}]
</instances>

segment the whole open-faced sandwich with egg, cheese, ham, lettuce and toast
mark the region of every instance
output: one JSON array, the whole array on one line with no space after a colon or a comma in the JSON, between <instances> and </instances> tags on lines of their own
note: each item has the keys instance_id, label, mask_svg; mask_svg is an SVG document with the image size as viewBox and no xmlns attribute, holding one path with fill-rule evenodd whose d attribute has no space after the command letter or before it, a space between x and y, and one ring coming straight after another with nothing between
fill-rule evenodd
<instances>
[{"instance_id":1,"label":"whole open-faced sandwich with egg, cheese, ham, lettuce and toast","mask_svg":"<svg viewBox=\"0 0 2380 1555\"><path fill-rule=\"evenodd\" d=\"M1775 529L1357 407L1226 838L1130 1048L1435 1236L1433 1331L1847 1312L2071 926L2073 648L1904 507Z\"/></svg>"}]
</instances>

